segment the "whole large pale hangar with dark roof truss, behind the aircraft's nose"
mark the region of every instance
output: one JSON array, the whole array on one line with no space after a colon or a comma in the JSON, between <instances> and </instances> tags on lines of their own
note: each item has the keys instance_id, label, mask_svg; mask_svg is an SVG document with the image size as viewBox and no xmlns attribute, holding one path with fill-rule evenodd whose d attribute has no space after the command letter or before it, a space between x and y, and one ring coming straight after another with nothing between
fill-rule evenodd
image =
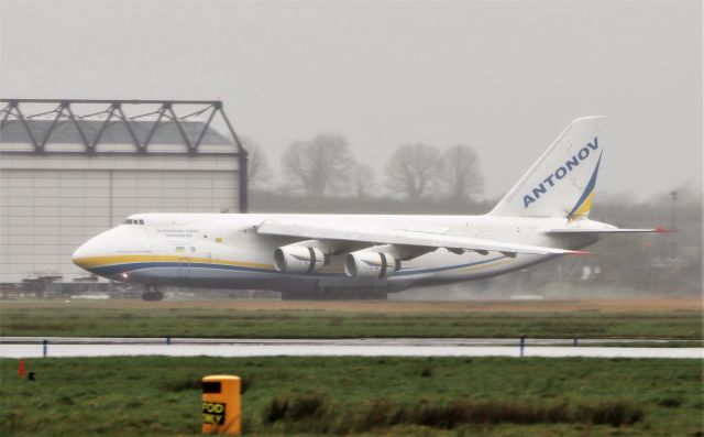
<instances>
[{"instance_id":1,"label":"whole large pale hangar with dark roof truss, behind the aircraft's nose","mask_svg":"<svg viewBox=\"0 0 704 437\"><path fill-rule=\"evenodd\" d=\"M246 151L220 101L0 102L6 286L90 280L72 253L132 214L246 211Z\"/></svg>"}]
</instances>

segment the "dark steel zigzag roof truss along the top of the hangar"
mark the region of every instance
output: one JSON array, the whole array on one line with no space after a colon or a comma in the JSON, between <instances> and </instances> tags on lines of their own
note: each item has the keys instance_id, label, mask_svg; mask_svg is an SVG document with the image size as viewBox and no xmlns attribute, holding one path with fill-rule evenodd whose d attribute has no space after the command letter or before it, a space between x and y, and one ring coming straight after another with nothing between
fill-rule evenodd
<instances>
[{"instance_id":1,"label":"dark steel zigzag roof truss along the top of the hangar","mask_svg":"<svg viewBox=\"0 0 704 437\"><path fill-rule=\"evenodd\" d=\"M234 143L234 150L222 150L246 156L246 151L219 100L0 99L0 103L2 142L30 143L32 148L28 151L32 153L51 152L47 150L50 141L81 145L82 149L77 152L88 154L100 153L101 144L121 143L132 148L111 149L110 152L146 154L158 151L195 155L202 152L202 145L224 146ZM46 108L47 105L56 107L38 113L28 113L28 110L36 106ZM150 110L140 111L140 105L142 108L150 107ZM179 116L176 108L187 108L188 113ZM218 116L232 140L212 129ZM153 148L156 144L182 148ZM210 148L208 152L212 153L212 150Z\"/></svg>"}]
</instances>

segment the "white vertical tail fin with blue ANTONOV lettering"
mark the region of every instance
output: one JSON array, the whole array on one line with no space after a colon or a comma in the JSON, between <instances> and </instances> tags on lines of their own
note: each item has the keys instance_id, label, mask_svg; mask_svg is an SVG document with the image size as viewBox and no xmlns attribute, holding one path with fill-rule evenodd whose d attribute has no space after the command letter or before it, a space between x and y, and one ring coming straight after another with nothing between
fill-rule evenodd
<instances>
[{"instance_id":1,"label":"white vertical tail fin with blue ANTONOV lettering","mask_svg":"<svg viewBox=\"0 0 704 437\"><path fill-rule=\"evenodd\" d=\"M586 217L604 142L605 117L573 120L490 212L513 217Z\"/></svg>"}]
</instances>

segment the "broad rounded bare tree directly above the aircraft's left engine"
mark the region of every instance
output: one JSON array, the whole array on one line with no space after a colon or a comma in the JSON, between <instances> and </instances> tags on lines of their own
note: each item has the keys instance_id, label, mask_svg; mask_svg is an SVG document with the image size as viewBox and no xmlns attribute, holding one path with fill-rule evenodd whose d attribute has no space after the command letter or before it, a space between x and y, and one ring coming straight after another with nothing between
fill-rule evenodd
<instances>
[{"instance_id":1,"label":"broad rounded bare tree directly above the aircraft's left engine","mask_svg":"<svg viewBox=\"0 0 704 437\"><path fill-rule=\"evenodd\" d=\"M355 165L346 140L336 133L295 141L282 161L296 187L310 197L344 190Z\"/></svg>"}]
</instances>

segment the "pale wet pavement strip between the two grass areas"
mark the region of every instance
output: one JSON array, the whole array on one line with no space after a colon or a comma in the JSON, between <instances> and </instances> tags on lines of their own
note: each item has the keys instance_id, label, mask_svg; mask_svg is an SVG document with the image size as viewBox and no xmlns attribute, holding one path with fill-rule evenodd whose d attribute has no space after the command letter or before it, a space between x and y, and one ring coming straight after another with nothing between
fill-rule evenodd
<instances>
[{"instance_id":1,"label":"pale wet pavement strip between the two grass areas","mask_svg":"<svg viewBox=\"0 0 704 437\"><path fill-rule=\"evenodd\" d=\"M46 340L46 345L44 343ZM662 342L666 340L638 340ZM620 339L186 339L0 337L0 358L43 357L592 357L703 359L704 348L624 347ZM598 345L598 346L595 346ZM608 346L607 346L608 345Z\"/></svg>"}]
</instances>

